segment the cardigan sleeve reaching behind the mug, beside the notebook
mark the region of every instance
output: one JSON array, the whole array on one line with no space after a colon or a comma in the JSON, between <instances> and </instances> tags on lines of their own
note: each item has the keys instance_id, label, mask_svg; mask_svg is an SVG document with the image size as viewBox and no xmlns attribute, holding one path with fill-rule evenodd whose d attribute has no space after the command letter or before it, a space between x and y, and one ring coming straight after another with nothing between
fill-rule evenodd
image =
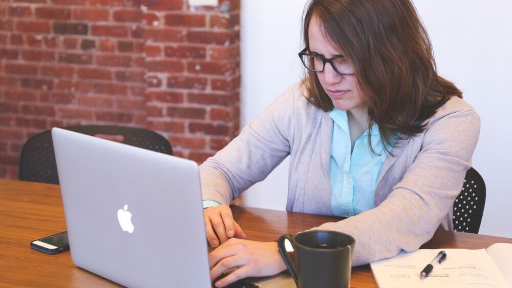
<instances>
[{"instance_id":1,"label":"cardigan sleeve reaching behind the mug, beside the notebook","mask_svg":"<svg viewBox=\"0 0 512 288\"><path fill-rule=\"evenodd\" d=\"M417 250L452 209L471 167L480 118L474 110L457 111L426 129L419 154L386 200L374 209L314 228L352 235L353 265Z\"/></svg>"}]
</instances>

